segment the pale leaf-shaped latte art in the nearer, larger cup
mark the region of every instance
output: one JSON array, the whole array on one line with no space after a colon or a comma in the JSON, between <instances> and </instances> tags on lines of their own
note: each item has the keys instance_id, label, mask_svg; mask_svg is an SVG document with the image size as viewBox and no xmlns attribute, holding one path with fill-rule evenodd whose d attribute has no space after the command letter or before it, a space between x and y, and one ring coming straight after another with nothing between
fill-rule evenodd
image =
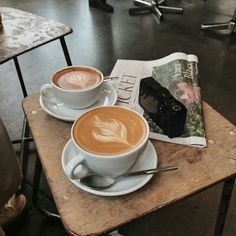
<instances>
[{"instance_id":1,"label":"pale leaf-shaped latte art in the nearer, larger cup","mask_svg":"<svg viewBox=\"0 0 236 236\"><path fill-rule=\"evenodd\" d=\"M99 129L92 134L100 142L117 142L132 146L127 140L127 129L119 120L102 121L98 116L94 116L94 125Z\"/></svg>"}]
</instances>

